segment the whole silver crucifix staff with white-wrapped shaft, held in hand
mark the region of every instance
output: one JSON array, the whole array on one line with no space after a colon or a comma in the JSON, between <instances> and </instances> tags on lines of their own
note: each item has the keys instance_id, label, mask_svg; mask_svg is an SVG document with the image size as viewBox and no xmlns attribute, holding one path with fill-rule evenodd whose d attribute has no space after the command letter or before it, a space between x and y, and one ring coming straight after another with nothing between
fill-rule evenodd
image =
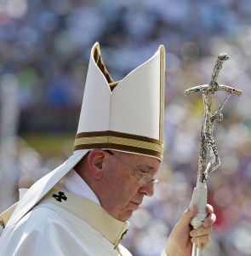
<instances>
[{"instance_id":1,"label":"whole silver crucifix staff with white-wrapped shaft, held in hand","mask_svg":"<svg viewBox=\"0 0 251 256\"><path fill-rule=\"evenodd\" d=\"M216 121L223 120L223 114L220 112L231 93L236 94L237 96L242 95L241 90L218 84L217 82L222 65L224 61L228 59L229 56L225 53L221 53L218 56L209 84L198 85L185 90L185 95L189 95L194 92L201 92L203 94L204 104L200 137L200 152L198 159L197 186L194 189L193 195L191 197L191 205L197 206L197 214L194 218L191 219L191 225L194 229L200 227L203 220L208 215L206 209L208 201L208 189L206 182L208 180L209 174L214 172L220 166L220 155L216 147L213 134L214 123ZM217 111L215 113L211 113L214 93L218 90L225 90L229 93L229 95L226 96L225 101L221 103ZM191 256L200 256L201 250L201 244L193 244Z\"/></svg>"}]
</instances>

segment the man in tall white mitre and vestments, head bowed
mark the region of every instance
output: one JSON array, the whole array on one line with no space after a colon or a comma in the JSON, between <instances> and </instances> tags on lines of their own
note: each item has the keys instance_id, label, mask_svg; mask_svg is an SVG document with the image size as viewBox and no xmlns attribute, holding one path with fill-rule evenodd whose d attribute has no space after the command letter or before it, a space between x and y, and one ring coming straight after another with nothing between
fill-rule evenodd
<instances>
[{"instance_id":1,"label":"man in tall white mitre and vestments, head bowed","mask_svg":"<svg viewBox=\"0 0 251 256\"><path fill-rule=\"evenodd\" d=\"M123 60L121 60L123 61ZM157 186L163 160L165 49L114 81L94 44L74 151L1 214L0 255L123 255L128 219ZM208 245L213 207L200 228L190 207L174 226L162 256L191 255Z\"/></svg>"}]
</instances>

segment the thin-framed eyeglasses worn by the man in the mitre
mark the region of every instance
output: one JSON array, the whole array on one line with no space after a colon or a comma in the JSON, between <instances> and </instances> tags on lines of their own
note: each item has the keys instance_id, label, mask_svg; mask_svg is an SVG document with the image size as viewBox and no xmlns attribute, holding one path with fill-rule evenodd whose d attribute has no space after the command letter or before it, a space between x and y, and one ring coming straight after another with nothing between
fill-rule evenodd
<instances>
[{"instance_id":1,"label":"thin-framed eyeglasses worn by the man in the mitre","mask_svg":"<svg viewBox=\"0 0 251 256\"><path fill-rule=\"evenodd\" d=\"M152 183L153 187L156 187L157 184L159 183L159 179L152 177L152 175L149 172L143 172L143 171L139 170L138 168L131 166L130 164L128 164L127 162L122 160L117 154L114 154L110 150L106 150L106 152L111 154L116 160L122 162L124 165L129 166L134 172L140 173L141 178L138 181L140 187L144 187L148 183Z\"/></svg>"}]
</instances>

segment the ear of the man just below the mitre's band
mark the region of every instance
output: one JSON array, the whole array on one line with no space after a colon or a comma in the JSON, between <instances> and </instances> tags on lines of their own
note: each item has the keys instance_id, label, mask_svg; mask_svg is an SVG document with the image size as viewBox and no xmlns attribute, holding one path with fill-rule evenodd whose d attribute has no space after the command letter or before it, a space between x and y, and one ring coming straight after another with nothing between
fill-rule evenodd
<instances>
[{"instance_id":1,"label":"ear of the man just below the mitre's band","mask_svg":"<svg viewBox=\"0 0 251 256\"><path fill-rule=\"evenodd\" d=\"M94 149L88 154L88 169L95 180L99 180L106 168L106 153L101 149Z\"/></svg>"}]
</instances>

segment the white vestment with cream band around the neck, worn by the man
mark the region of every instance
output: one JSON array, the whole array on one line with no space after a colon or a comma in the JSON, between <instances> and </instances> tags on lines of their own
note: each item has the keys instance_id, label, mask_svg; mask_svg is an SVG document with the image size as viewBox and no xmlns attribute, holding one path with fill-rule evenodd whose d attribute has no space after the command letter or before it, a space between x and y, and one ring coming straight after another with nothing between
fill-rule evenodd
<instances>
[{"instance_id":1,"label":"white vestment with cream band around the neck, worn by the man","mask_svg":"<svg viewBox=\"0 0 251 256\"><path fill-rule=\"evenodd\" d=\"M71 188L67 179L66 188ZM0 256L132 256L120 244L128 222L112 218L89 192L92 200L61 185L49 191L17 224L4 230Z\"/></svg>"}]
</instances>

